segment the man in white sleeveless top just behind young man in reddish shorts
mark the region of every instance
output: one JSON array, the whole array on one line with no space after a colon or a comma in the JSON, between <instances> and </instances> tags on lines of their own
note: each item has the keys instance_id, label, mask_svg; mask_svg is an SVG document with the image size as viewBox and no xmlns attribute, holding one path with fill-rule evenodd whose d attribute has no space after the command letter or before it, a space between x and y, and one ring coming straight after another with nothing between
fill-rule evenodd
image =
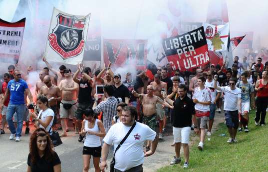
<instances>
[{"instance_id":1,"label":"man in white sleeveless top just behind young man in reddish shorts","mask_svg":"<svg viewBox=\"0 0 268 172\"><path fill-rule=\"evenodd\" d=\"M212 129L212 125L214 122L215 110L217 106L217 101L221 96L221 91L216 90L214 88L214 81L212 78L212 72L210 70L207 71L207 77L208 79L206 80L205 86L210 88L210 92L211 92L210 118L209 118L209 128L208 128L207 135L211 136L211 129ZM220 83L218 81L217 81L217 85L220 86Z\"/></svg>"}]
</instances>

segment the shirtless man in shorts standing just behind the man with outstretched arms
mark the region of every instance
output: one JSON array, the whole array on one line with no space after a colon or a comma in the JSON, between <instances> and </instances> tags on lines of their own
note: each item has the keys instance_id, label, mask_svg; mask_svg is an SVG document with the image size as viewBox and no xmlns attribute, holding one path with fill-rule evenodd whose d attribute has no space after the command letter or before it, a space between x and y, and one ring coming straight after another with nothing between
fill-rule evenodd
<instances>
[{"instance_id":1,"label":"shirtless man in shorts standing just behind the man with outstretched arms","mask_svg":"<svg viewBox=\"0 0 268 172\"><path fill-rule=\"evenodd\" d=\"M159 96L162 100L164 99L161 91L168 91L168 86L166 82L161 81L161 76L159 74L154 75L154 81L151 82L151 85L153 86L154 89L154 95ZM163 89L163 90L162 90ZM163 106L160 103L156 104L156 114L157 118L159 119L159 139L163 139L163 126L164 126L164 115L165 115L165 110Z\"/></svg>"}]
</instances>

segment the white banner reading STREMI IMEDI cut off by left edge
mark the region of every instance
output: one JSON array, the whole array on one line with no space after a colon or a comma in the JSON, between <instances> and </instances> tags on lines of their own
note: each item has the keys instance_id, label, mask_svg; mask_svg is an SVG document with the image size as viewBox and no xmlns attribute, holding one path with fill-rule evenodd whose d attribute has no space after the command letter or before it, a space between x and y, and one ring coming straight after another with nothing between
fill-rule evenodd
<instances>
[{"instance_id":1,"label":"white banner reading STREMI IMEDI cut off by left edge","mask_svg":"<svg viewBox=\"0 0 268 172\"><path fill-rule=\"evenodd\" d=\"M26 18L16 22L0 19L0 61L16 63L19 58L20 47Z\"/></svg>"}]
</instances>

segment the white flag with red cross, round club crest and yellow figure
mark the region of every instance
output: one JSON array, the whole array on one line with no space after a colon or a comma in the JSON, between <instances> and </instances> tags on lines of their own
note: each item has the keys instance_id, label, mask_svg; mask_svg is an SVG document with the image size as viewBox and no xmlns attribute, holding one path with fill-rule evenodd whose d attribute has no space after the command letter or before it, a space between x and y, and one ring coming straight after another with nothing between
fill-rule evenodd
<instances>
[{"instance_id":1,"label":"white flag with red cross, round club crest and yellow figure","mask_svg":"<svg viewBox=\"0 0 268 172\"><path fill-rule=\"evenodd\" d=\"M229 23L226 25L212 25L204 23L203 26L206 33L209 50L226 50L228 44Z\"/></svg>"}]
</instances>

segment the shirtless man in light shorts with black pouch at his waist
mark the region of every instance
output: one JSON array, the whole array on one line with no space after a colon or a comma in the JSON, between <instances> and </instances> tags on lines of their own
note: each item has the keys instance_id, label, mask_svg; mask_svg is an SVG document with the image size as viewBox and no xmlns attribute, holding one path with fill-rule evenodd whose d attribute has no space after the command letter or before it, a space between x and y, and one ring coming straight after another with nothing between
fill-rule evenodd
<instances>
[{"instance_id":1,"label":"shirtless man in light shorts with black pouch at his waist","mask_svg":"<svg viewBox=\"0 0 268 172\"><path fill-rule=\"evenodd\" d=\"M77 130L77 122L75 117L75 110L77 107L77 92L79 85L73 81L71 76L71 69L63 70L65 79L59 82L59 88L61 90L62 100L59 107L59 115L62 127L61 137L67 136L68 131L68 117L71 116L75 123L75 130Z\"/></svg>"}]
</instances>

